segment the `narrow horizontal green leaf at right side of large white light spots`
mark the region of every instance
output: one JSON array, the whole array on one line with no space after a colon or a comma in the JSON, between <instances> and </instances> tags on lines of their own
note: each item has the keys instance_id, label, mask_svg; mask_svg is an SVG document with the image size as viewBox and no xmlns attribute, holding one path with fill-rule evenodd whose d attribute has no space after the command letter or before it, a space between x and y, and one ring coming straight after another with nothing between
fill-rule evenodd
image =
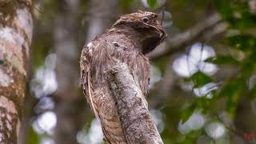
<instances>
[{"instance_id":1,"label":"narrow horizontal green leaf at right side of large white light spots","mask_svg":"<svg viewBox=\"0 0 256 144\"><path fill-rule=\"evenodd\" d=\"M207 58L205 62L211 62L214 64L239 64L239 62L236 59L234 59L231 55L219 55L217 57Z\"/></svg>"}]
</instances>

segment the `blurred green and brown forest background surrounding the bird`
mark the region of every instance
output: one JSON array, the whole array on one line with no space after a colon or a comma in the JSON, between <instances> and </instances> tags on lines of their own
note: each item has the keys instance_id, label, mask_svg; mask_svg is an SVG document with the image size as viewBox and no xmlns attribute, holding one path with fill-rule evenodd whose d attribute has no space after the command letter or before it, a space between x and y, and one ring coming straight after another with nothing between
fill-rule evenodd
<instances>
[{"instance_id":1,"label":"blurred green and brown forest background surrounding the bird","mask_svg":"<svg viewBox=\"0 0 256 144\"><path fill-rule=\"evenodd\" d=\"M34 0L19 143L99 144L80 87L82 46L150 10L169 37L149 54L150 113L166 144L256 143L256 0Z\"/></svg>"}]
</instances>

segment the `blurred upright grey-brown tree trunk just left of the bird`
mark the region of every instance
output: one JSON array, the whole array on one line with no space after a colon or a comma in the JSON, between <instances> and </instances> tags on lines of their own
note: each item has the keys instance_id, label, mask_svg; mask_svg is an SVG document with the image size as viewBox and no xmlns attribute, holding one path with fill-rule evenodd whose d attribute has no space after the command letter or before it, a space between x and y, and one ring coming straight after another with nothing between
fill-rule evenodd
<instances>
[{"instance_id":1,"label":"blurred upright grey-brown tree trunk just left of the bird","mask_svg":"<svg viewBox=\"0 0 256 144\"><path fill-rule=\"evenodd\" d=\"M54 95L57 115L54 141L59 144L77 143L77 133L82 130L86 118L86 99L78 89L78 7L79 0L61 2L61 11L54 23L58 78L58 90Z\"/></svg>"}]
</instances>

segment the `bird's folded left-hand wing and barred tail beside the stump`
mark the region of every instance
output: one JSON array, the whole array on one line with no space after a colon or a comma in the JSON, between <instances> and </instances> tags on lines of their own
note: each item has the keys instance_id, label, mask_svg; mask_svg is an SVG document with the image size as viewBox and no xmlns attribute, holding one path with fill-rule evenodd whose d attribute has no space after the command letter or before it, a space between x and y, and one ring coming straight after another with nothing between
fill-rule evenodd
<instances>
[{"instance_id":1,"label":"bird's folded left-hand wing and barred tail beside the stump","mask_svg":"<svg viewBox=\"0 0 256 144\"><path fill-rule=\"evenodd\" d=\"M103 81L103 79L94 78L94 73L100 71L95 71L95 66L101 67L99 66L100 64L98 64L99 60L104 57L102 55L106 54L106 51L104 51L106 49L102 49L101 46L102 45L99 44L94 45L93 43L89 43L82 50L80 59L82 88L86 95L86 100L90 104L90 108L94 111L95 117L98 118L102 124L102 131L106 141L111 144L125 144L126 139L122 134L117 108L106 86L107 84L105 83L103 86L93 85L94 81ZM105 45L105 47L110 46ZM102 65L106 66L106 59L103 61L101 61L103 62Z\"/></svg>"}]
</instances>

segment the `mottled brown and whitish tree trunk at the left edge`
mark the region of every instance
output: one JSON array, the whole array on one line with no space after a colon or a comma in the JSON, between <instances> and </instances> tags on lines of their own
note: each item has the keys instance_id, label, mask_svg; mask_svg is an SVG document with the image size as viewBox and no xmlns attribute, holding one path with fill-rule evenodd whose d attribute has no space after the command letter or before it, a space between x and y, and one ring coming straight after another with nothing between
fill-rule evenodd
<instances>
[{"instance_id":1,"label":"mottled brown and whitish tree trunk at the left edge","mask_svg":"<svg viewBox=\"0 0 256 144\"><path fill-rule=\"evenodd\" d=\"M33 30L30 5L0 1L0 143L17 143Z\"/></svg>"}]
</instances>

